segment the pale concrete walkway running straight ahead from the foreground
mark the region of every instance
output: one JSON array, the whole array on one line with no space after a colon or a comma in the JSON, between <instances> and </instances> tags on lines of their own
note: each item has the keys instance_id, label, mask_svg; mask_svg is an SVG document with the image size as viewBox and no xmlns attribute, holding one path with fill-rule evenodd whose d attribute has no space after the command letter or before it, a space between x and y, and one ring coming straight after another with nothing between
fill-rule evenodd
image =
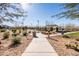
<instances>
[{"instance_id":1,"label":"pale concrete walkway running straight ahead from the foreground","mask_svg":"<svg viewBox=\"0 0 79 59\"><path fill-rule=\"evenodd\" d=\"M32 40L22 56L58 56L43 34L37 33L37 36L38 38Z\"/></svg>"}]
</instances>

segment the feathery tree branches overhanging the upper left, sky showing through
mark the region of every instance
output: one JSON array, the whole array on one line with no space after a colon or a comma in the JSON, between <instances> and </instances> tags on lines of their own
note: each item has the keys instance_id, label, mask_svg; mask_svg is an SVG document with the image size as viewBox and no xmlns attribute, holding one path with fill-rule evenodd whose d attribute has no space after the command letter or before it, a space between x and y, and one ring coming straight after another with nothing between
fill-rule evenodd
<instances>
[{"instance_id":1,"label":"feathery tree branches overhanging the upper left, sky showing through","mask_svg":"<svg viewBox=\"0 0 79 59\"><path fill-rule=\"evenodd\" d=\"M0 23L3 21L15 21L15 18L25 16L19 3L0 3Z\"/></svg>"}]
</instances>

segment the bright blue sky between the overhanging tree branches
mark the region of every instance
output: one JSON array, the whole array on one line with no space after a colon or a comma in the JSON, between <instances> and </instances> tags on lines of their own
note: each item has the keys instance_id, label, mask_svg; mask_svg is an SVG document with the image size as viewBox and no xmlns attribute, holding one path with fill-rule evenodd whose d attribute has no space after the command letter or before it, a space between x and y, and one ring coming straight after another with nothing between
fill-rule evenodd
<instances>
[{"instance_id":1,"label":"bright blue sky between the overhanging tree branches","mask_svg":"<svg viewBox=\"0 0 79 59\"><path fill-rule=\"evenodd\" d=\"M33 4L24 4L22 7L27 11L27 17L24 18L24 25L28 26L45 26L46 21L49 24L65 25L65 24L75 24L79 25L79 20L71 19L58 19L52 18L52 15L55 15L59 12L64 11L60 4L55 3L33 3ZM38 24L39 20L39 24Z\"/></svg>"}]
</instances>

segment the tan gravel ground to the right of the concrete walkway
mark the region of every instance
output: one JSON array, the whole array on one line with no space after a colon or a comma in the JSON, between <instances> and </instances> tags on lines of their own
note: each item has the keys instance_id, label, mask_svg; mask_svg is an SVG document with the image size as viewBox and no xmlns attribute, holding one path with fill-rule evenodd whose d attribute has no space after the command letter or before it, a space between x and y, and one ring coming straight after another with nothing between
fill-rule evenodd
<instances>
[{"instance_id":1,"label":"tan gravel ground to the right of the concrete walkway","mask_svg":"<svg viewBox=\"0 0 79 59\"><path fill-rule=\"evenodd\" d=\"M75 39L63 38L61 36L53 36L48 39L49 43L54 47L59 56L79 56L79 52L66 48L65 44L69 42L78 42Z\"/></svg>"}]
</instances>

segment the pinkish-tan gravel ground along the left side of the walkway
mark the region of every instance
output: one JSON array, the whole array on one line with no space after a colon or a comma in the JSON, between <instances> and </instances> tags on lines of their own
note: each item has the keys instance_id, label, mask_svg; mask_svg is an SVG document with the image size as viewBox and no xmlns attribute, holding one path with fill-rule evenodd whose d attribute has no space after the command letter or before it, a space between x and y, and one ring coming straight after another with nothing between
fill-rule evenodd
<instances>
[{"instance_id":1,"label":"pinkish-tan gravel ground along the left side of the walkway","mask_svg":"<svg viewBox=\"0 0 79 59\"><path fill-rule=\"evenodd\" d=\"M11 40L2 40L2 45L5 47L0 49L0 56L21 56L25 48L32 41L32 39L27 40L27 38L23 36L21 38L21 44L17 47L9 47Z\"/></svg>"}]
</instances>

